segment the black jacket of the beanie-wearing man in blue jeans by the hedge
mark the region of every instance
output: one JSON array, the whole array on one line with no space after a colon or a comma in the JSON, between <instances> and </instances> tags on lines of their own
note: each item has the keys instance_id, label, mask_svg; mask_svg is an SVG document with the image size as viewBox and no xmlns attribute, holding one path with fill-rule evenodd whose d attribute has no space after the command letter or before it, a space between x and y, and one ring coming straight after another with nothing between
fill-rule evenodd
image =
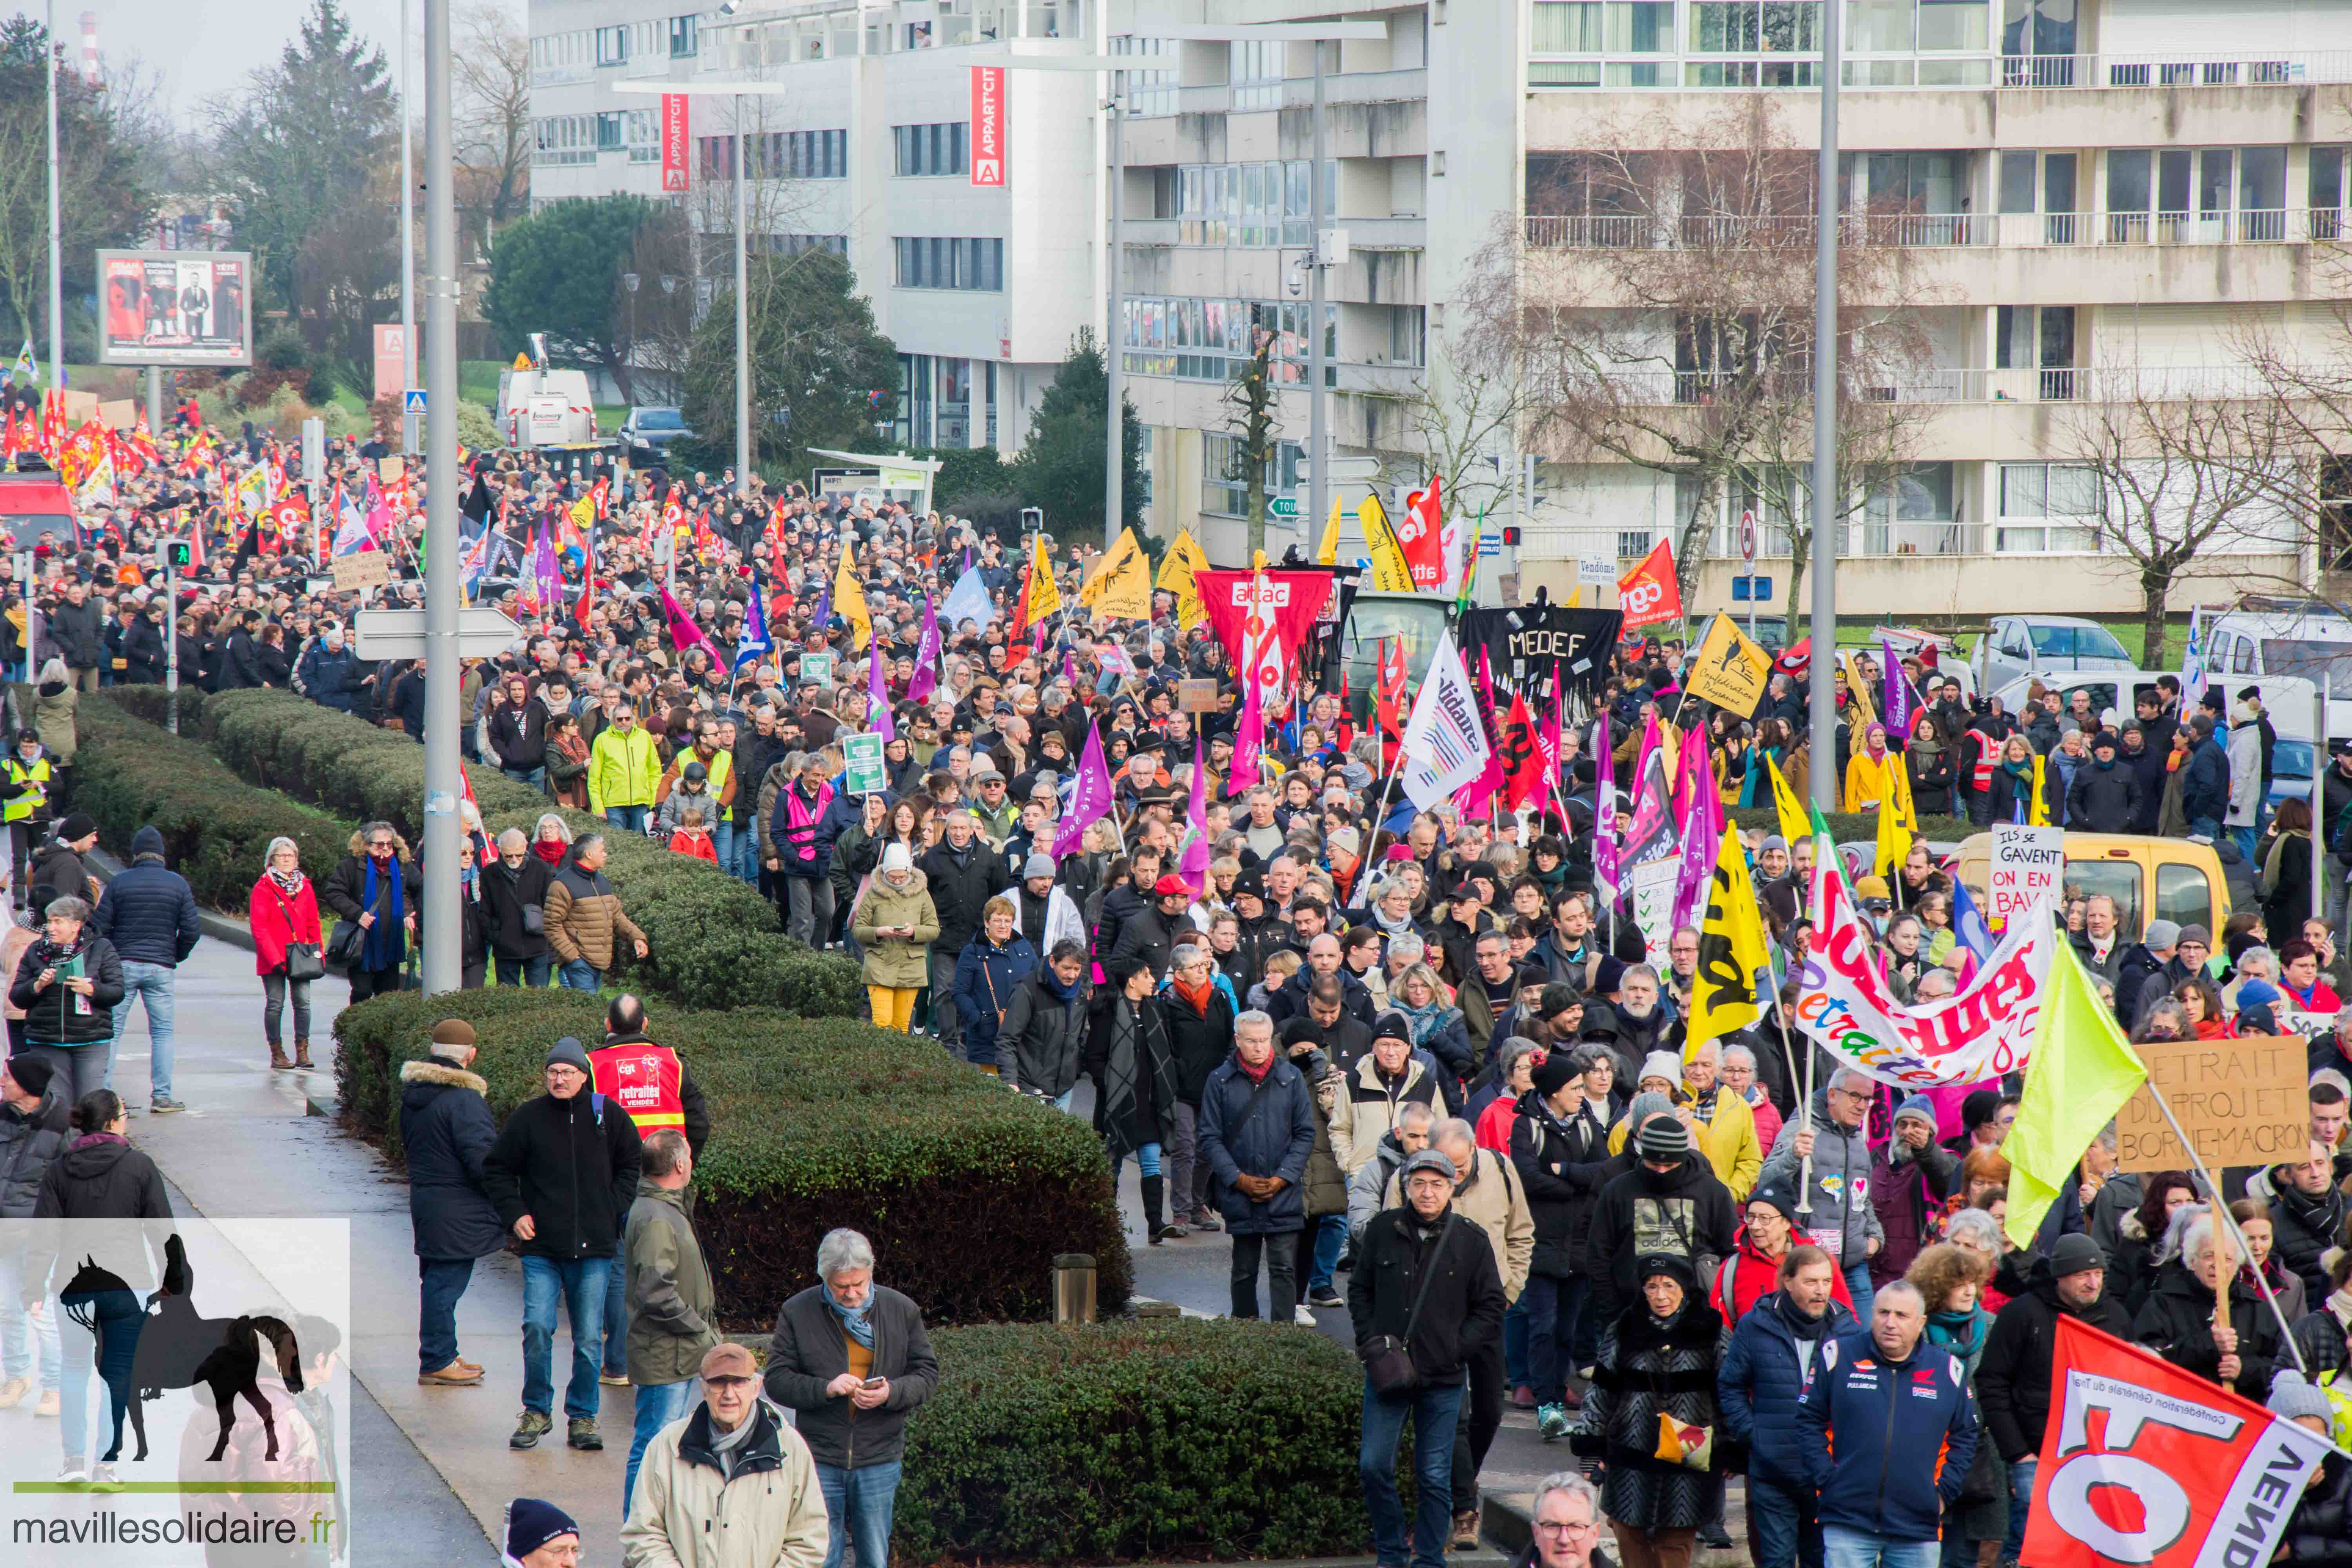
<instances>
[{"instance_id":1,"label":"black jacket of the beanie-wearing man in blue jeans by the hedge","mask_svg":"<svg viewBox=\"0 0 2352 1568\"><path fill-rule=\"evenodd\" d=\"M612 1258L637 1197L642 1154L628 1112L581 1088L569 1100L539 1095L517 1105L482 1157L482 1180L503 1229L532 1215L527 1258Z\"/></svg>"}]
</instances>

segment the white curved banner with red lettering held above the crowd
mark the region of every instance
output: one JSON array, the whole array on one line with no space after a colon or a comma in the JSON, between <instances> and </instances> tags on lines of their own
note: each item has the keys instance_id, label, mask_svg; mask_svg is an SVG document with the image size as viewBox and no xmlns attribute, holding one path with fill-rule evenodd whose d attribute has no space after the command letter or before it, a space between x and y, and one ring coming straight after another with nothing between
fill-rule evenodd
<instances>
[{"instance_id":1,"label":"white curved banner with red lettering held above the crowd","mask_svg":"<svg viewBox=\"0 0 2352 1568\"><path fill-rule=\"evenodd\" d=\"M1830 1056L1896 1088L1980 1084L2032 1056L2042 983L2060 940L2020 919L1957 997L1903 1006L1870 957L1846 879L1813 867L1813 950L1797 971L1797 1025Z\"/></svg>"}]
</instances>

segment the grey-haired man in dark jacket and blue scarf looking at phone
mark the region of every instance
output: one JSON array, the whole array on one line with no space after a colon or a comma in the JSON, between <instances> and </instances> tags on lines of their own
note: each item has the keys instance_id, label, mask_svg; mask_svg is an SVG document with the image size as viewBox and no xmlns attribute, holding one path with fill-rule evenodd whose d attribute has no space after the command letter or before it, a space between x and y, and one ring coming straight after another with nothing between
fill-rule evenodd
<instances>
[{"instance_id":1,"label":"grey-haired man in dark jacket and blue scarf looking at phone","mask_svg":"<svg viewBox=\"0 0 2352 1568\"><path fill-rule=\"evenodd\" d=\"M906 1418L938 1387L922 1307L875 1284L875 1248L854 1229L816 1244L816 1279L776 1314L767 1396L797 1413L816 1460L833 1540L826 1568L856 1544L858 1568L889 1563Z\"/></svg>"}]
</instances>

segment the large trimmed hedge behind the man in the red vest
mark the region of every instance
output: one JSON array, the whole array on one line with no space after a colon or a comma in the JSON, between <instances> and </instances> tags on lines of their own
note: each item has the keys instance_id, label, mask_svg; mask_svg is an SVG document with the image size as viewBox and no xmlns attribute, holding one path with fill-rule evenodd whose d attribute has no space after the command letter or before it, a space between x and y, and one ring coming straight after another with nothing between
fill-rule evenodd
<instances>
[{"instance_id":1,"label":"large trimmed hedge behind the man in the red vest","mask_svg":"<svg viewBox=\"0 0 2352 1568\"><path fill-rule=\"evenodd\" d=\"M402 992L346 1009L336 1084L358 1131L400 1159L400 1065L440 1018L475 1025L489 1110L539 1093L548 1046L602 1039L602 1004L562 990ZM1051 1316L1054 1253L1094 1253L1103 1312L1131 1288L1103 1143L936 1044L840 1018L649 1009L710 1100L694 1227L729 1328L774 1328L816 1284L816 1241L866 1232L891 1286L936 1321Z\"/></svg>"}]
</instances>

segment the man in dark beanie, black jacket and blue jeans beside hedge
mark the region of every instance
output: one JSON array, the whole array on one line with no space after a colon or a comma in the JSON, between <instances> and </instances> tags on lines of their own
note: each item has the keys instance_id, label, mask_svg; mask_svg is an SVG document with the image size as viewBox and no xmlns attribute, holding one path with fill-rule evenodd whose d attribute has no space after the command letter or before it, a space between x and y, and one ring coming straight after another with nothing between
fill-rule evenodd
<instances>
[{"instance_id":1,"label":"man in dark beanie, black jacket and blue jeans beside hedge","mask_svg":"<svg viewBox=\"0 0 2352 1568\"><path fill-rule=\"evenodd\" d=\"M522 1418L510 1448L534 1448L553 1427L557 1298L572 1321L567 1441L604 1446L595 1425L604 1293L637 1197L642 1143L621 1107L590 1093L588 1074L581 1041L557 1039L543 1067L548 1093L517 1105L482 1159L489 1201L522 1241Z\"/></svg>"}]
</instances>

